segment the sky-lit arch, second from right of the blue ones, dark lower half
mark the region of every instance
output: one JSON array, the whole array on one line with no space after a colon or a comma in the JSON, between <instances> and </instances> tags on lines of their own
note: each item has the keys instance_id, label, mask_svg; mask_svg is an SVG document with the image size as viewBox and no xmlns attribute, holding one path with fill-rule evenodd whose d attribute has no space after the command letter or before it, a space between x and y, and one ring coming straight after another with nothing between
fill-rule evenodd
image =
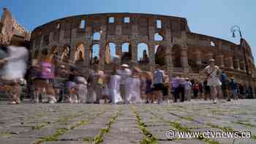
<instances>
[{"instance_id":1,"label":"sky-lit arch, second from right of the blue ones, dark lower half","mask_svg":"<svg viewBox=\"0 0 256 144\"><path fill-rule=\"evenodd\" d=\"M132 60L132 46L129 42L125 42L121 46L121 62L127 63Z\"/></svg>"}]
</instances>

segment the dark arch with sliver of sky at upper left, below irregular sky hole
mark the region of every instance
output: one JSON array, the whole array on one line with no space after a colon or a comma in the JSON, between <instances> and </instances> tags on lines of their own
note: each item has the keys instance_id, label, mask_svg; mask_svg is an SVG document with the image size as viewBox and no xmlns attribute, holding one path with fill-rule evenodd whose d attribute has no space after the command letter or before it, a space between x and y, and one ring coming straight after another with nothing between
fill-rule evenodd
<instances>
[{"instance_id":1,"label":"dark arch with sliver of sky at upper left, below irregular sky hole","mask_svg":"<svg viewBox=\"0 0 256 144\"><path fill-rule=\"evenodd\" d=\"M161 67L165 65L165 47L162 45L155 46L155 64Z\"/></svg>"}]
</instances>

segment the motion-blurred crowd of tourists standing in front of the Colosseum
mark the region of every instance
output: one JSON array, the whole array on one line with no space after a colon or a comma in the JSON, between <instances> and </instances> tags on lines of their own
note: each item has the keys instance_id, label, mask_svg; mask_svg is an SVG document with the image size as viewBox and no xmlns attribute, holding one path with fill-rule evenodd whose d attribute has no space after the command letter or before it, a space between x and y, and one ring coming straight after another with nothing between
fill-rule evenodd
<instances>
[{"instance_id":1,"label":"motion-blurred crowd of tourists standing in front of the Colosseum","mask_svg":"<svg viewBox=\"0 0 256 144\"><path fill-rule=\"evenodd\" d=\"M67 69L64 64L57 65L54 55L34 60L26 72L26 48L8 47L5 51L6 56L0 53L0 75L1 83L11 86L10 104L20 103L20 80L26 73L31 102L36 103L163 104L205 99L215 104L224 99L237 100L244 94L244 87L233 77L228 79L214 59L209 60L210 64L203 70L206 79L200 81L168 75L159 65L154 72L142 71L136 64L121 64L118 56L112 61L111 72L102 71L99 64L94 64L85 75L75 66ZM1 89L7 88L4 84ZM252 94L252 88L245 91Z\"/></svg>"}]
</instances>

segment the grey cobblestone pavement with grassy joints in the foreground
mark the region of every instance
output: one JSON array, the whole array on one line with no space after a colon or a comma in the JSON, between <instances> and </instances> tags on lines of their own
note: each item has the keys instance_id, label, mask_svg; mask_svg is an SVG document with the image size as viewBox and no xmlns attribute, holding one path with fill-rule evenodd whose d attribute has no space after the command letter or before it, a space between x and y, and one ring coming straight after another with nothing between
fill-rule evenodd
<instances>
[{"instance_id":1,"label":"grey cobblestone pavement with grassy joints in the foreground","mask_svg":"<svg viewBox=\"0 0 256 144\"><path fill-rule=\"evenodd\" d=\"M256 143L256 100L217 105L192 101L170 105L7 105L0 102L1 144ZM176 132L252 132L250 138L168 139ZM202 133L201 133L202 134Z\"/></svg>"}]
</instances>

